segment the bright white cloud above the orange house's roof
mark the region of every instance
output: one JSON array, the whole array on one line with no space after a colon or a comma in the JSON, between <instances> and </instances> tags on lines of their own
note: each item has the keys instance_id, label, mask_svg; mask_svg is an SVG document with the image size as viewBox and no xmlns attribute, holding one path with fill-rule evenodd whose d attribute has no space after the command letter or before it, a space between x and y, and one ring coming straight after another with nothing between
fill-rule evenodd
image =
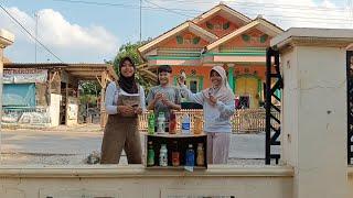
<instances>
[{"instance_id":1,"label":"bright white cloud above the orange house's roof","mask_svg":"<svg viewBox=\"0 0 353 198\"><path fill-rule=\"evenodd\" d=\"M154 0L159 4L167 8L182 8L190 10L199 10L204 12L220 1L215 0L194 0L194 1L162 1ZM353 28L353 15L349 9L343 8L344 2L322 0L223 0L231 8L250 16L256 18L261 14L265 19L276 23L282 29L291 26L306 28L335 28L349 29ZM182 12L182 11L181 11ZM186 12L189 15L196 16L194 12Z\"/></svg>"}]
</instances>

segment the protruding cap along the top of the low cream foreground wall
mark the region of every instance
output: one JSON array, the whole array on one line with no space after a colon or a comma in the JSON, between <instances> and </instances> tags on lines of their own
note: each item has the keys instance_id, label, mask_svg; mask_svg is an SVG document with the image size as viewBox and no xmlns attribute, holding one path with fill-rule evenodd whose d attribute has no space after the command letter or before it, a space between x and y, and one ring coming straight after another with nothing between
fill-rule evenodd
<instances>
[{"instance_id":1,"label":"protruding cap along the top of the low cream foreground wall","mask_svg":"<svg viewBox=\"0 0 353 198\"><path fill-rule=\"evenodd\" d=\"M0 166L0 177L10 178L121 178L121 177L292 177L289 166L210 165L193 173L182 169L146 169L142 165Z\"/></svg>"}]
</instances>

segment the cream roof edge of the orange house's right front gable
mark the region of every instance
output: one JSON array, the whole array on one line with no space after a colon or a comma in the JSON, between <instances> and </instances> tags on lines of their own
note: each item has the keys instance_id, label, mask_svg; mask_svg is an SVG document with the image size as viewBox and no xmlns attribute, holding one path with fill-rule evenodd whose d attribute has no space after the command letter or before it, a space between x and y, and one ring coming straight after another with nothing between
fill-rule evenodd
<instances>
[{"instance_id":1,"label":"cream roof edge of the orange house's right front gable","mask_svg":"<svg viewBox=\"0 0 353 198\"><path fill-rule=\"evenodd\" d=\"M250 29L258 29L261 32L265 32L266 34L270 35L270 36L276 36L277 34L284 32L280 28L278 28L277 25L268 22L267 20L264 20L263 18L258 16L256 18L254 21L252 21L250 23L239 28L238 30L223 36L222 38L211 43L210 45L206 46L207 51L211 51L217 46L220 46L221 44L226 43L227 41L242 35L243 33L245 33L246 31L250 30Z\"/></svg>"}]
</instances>

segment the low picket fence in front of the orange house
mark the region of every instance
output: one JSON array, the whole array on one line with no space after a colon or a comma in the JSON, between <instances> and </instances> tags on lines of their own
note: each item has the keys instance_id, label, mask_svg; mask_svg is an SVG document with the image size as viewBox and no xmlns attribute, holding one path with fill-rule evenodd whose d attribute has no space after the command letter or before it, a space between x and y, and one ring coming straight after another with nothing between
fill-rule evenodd
<instances>
[{"instance_id":1,"label":"low picket fence in front of the orange house","mask_svg":"<svg viewBox=\"0 0 353 198\"><path fill-rule=\"evenodd\" d=\"M195 117L203 117L203 110L200 109L183 109L176 111L176 130L181 129L181 118L183 114L189 114L191 118L191 129L193 129L193 120ZM233 133L253 133L265 131L266 112L265 109L238 109L233 114L231 121ZM279 119L279 113L275 114ZM146 132L148 129L148 114L140 117L139 130Z\"/></svg>"}]
</instances>

